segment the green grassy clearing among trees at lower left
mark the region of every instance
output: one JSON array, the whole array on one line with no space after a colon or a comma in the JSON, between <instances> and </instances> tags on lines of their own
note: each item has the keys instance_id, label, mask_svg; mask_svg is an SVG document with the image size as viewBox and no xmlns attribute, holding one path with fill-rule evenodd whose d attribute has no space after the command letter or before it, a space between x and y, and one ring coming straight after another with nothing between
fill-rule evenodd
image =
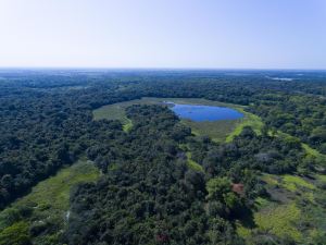
<instances>
[{"instance_id":1,"label":"green grassy clearing among trees at lower left","mask_svg":"<svg viewBox=\"0 0 326 245\"><path fill-rule=\"evenodd\" d=\"M35 233L34 244L58 244L58 237L70 216L72 187L79 183L95 182L99 175L91 162L79 160L40 182L28 195L0 212L0 237L10 237L27 229Z\"/></svg>"}]
</instances>

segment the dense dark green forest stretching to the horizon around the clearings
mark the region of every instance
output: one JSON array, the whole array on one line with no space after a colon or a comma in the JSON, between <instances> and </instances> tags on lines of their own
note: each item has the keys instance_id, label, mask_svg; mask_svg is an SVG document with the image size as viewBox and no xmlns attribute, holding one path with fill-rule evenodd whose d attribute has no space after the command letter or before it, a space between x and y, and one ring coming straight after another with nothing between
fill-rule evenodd
<instances>
[{"instance_id":1,"label":"dense dark green forest stretching to the horizon around the clearings","mask_svg":"<svg viewBox=\"0 0 326 245\"><path fill-rule=\"evenodd\" d=\"M296 236L273 231L249 238L237 232L239 221L253 228L255 203L278 192L267 177L315 184L315 175L325 176L326 73L298 73L3 70L0 209L87 158L101 176L72 188L64 231L42 244L298 244ZM128 131L117 120L92 118L101 106L142 97L240 105L264 126L259 133L244 126L231 142L216 143L192 134L167 106L127 107ZM190 168L189 158L199 168ZM311 205L325 212L325 201L321 195ZM55 230L51 222L28 225L24 220L33 212L21 207L0 215L0 244L36 244L35 237ZM304 225L317 231L313 219ZM305 244L325 241L326 232L318 231Z\"/></svg>"}]
</instances>

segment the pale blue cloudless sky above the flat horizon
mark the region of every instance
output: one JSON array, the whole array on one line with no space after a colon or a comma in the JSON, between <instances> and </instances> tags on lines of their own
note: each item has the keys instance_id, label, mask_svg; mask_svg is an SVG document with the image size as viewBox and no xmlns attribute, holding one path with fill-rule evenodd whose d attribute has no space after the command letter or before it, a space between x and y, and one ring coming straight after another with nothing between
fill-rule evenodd
<instances>
[{"instance_id":1,"label":"pale blue cloudless sky above the flat horizon","mask_svg":"<svg viewBox=\"0 0 326 245\"><path fill-rule=\"evenodd\" d=\"M326 69L326 0L0 0L0 68Z\"/></svg>"}]
</instances>

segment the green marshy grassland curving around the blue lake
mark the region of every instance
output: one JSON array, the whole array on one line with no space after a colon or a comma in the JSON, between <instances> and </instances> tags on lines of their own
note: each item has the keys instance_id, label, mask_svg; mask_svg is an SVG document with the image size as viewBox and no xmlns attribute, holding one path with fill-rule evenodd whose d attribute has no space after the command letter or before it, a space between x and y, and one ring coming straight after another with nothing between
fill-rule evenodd
<instances>
[{"instance_id":1,"label":"green marshy grassland curving around the blue lake","mask_svg":"<svg viewBox=\"0 0 326 245\"><path fill-rule=\"evenodd\" d=\"M193 122L190 120L181 120L181 123L191 127L195 135L206 135L215 142L230 142L237 135L239 135L244 126L252 126L256 133L261 132L263 123L261 119L252 113L244 111L246 107L233 103L224 103L218 101L212 101L206 99L195 99L195 98L149 98L143 97L137 100L130 100L120 103L113 103L109 106L96 109L92 114L95 120L108 119L108 120L120 120L124 130L129 130L133 124L127 119L124 109L131 105L158 105L163 101L171 101L175 103L187 103L187 105L203 105L203 106L216 106L216 107L228 107L238 110L243 113L244 117L238 120L221 120L214 122Z\"/></svg>"}]
</instances>

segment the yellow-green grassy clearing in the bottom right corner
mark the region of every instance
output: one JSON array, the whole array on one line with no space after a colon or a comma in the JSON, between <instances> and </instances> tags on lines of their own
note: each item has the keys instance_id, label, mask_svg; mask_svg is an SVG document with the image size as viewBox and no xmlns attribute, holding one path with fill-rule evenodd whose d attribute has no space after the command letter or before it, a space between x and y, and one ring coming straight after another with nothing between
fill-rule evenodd
<instances>
[{"instance_id":1,"label":"yellow-green grassy clearing in the bottom right corner","mask_svg":"<svg viewBox=\"0 0 326 245\"><path fill-rule=\"evenodd\" d=\"M258 198L253 221L255 226L237 223L237 232L248 244L256 234L292 238L296 244L323 244L326 231L326 175L313 179L299 175L263 174L269 197Z\"/></svg>"}]
</instances>

